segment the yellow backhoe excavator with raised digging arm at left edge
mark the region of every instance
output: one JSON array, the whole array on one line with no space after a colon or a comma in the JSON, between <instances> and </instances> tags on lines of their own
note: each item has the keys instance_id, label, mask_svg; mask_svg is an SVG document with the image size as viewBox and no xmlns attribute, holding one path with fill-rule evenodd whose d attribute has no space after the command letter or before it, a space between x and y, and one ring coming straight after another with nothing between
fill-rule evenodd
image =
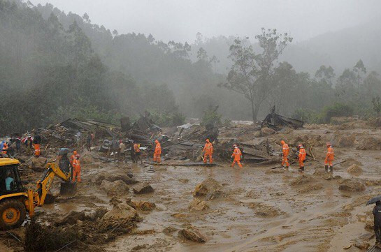
<instances>
[{"instance_id":1,"label":"yellow backhoe excavator with raised digging arm at left edge","mask_svg":"<svg viewBox=\"0 0 381 252\"><path fill-rule=\"evenodd\" d=\"M41 207L52 186L55 176L63 180L61 193L73 193L76 184L71 183L71 172L63 172L56 163L48 163L41 180L37 181L37 191L24 189L18 166L20 161L0 158L0 230L20 226L26 217L34 216L34 207Z\"/></svg>"}]
</instances>

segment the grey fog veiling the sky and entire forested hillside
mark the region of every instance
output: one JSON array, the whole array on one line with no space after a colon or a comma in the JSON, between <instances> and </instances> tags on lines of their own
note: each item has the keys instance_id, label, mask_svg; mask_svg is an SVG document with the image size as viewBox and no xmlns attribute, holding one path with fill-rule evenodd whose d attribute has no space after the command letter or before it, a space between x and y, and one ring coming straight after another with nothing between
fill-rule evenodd
<instances>
[{"instance_id":1,"label":"grey fog veiling the sky and entire forested hillside","mask_svg":"<svg viewBox=\"0 0 381 252\"><path fill-rule=\"evenodd\" d=\"M0 0L0 89L12 108L0 111L0 133L145 111L160 126L257 122L274 105L308 123L375 117L380 9L375 0Z\"/></svg>"}]
</instances>

